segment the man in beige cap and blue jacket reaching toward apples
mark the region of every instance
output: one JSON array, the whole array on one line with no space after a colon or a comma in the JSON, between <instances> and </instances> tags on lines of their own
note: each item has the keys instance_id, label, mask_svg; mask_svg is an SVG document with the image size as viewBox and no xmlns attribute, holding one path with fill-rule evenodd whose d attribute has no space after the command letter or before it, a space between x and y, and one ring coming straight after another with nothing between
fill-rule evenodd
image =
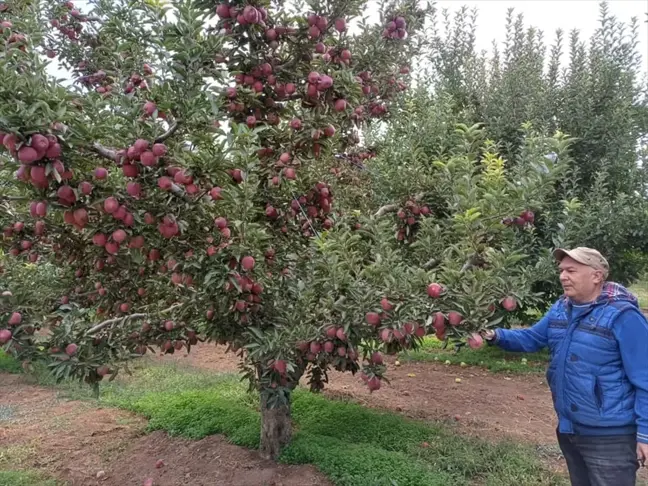
<instances>
[{"instance_id":1,"label":"man in beige cap and blue jacket reaching toward apples","mask_svg":"<svg viewBox=\"0 0 648 486\"><path fill-rule=\"evenodd\" d=\"M573 486L634 486L648 459L648 321L596 250L557 249L564 295L528 329L483 332L507 351L549 347L547 381Z\"/></svg>"}]
</instances>

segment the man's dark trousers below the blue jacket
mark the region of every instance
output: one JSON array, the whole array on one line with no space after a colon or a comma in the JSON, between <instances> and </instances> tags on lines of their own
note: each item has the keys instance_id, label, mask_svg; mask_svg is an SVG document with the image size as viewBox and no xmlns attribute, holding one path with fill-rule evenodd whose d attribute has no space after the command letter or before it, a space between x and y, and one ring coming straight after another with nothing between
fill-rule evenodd
<instances>
[{"instance_id":1,"label":"man's dark trousers below the blue jacket","mask_svg":"<svg viewBox=\"0 0 648 486\"><path fill-rule=\"evenodd\" d=\"M572 486L635 486L639 463L635 435L558 433Z\"/></svg>"}]
</instances>

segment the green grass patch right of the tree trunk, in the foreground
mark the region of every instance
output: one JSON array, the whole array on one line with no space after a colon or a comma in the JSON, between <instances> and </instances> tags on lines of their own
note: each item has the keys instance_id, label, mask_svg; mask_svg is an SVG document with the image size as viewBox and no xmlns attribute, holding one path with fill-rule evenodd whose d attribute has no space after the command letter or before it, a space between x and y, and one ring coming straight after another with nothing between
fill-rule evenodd
<instances>
[{"instance_id":1,"label":"green grass patch right of the tree trunk, in the foreground","mask_svg":"<svg viewBox=\"0 0 648 486\"><path fill-rule=\"evenodd\" d=\"M338 485L565 484L518 444L461 437L445 425L303 390L293 418L298 432L281 460L316 464Z\"/></svg>"}]
</instances>

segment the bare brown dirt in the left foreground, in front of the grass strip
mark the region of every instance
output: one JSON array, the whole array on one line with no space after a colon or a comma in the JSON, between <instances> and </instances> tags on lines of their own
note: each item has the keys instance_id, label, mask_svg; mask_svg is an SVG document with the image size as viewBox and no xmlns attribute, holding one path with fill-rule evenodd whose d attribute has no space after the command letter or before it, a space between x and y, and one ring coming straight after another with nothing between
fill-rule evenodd
<instances>
[{"instance_id":1,"label":"bare brown dirt in the left foreground, in front of the grass strip","mask_svg":"<svg viewBox=\"0 0 648 486\"><path fill-rule=\"evenodd\" d=\"M261 460L222 436L144 435L146 420L57 399L56 391L0 373L0 470L38 469L70 486L329 486L309 466ZM158 459L165 466L157 469ZM97 479L97 473L101 479Z\"/></svg>"}]
</instances>

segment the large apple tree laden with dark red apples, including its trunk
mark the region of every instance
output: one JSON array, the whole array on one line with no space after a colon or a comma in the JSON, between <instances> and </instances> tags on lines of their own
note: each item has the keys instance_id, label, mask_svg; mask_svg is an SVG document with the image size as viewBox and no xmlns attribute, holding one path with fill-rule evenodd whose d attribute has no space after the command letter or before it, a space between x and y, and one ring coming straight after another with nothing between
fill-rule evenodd
<instances>
[{"instance_id":1,"label":"large apple tree laden with dark red apples, including its trunk","mask_svg":"<svg viewBox=\"0 0 648 486\"><path fill-rule=\"evenodd\" d=\"M227 345L275 458L302 376L317 390L364 368L380 385L380 330L313 269L346 217L336 154L372 156L359 130L398 106L429 10L388 2L370 24L357 0L89 4L0 3L2 250L55 269L58 290L49 312L30 295L43 282L3 281L0 345L97 392L147 352Z\"/></svg>"}]
</instances>

